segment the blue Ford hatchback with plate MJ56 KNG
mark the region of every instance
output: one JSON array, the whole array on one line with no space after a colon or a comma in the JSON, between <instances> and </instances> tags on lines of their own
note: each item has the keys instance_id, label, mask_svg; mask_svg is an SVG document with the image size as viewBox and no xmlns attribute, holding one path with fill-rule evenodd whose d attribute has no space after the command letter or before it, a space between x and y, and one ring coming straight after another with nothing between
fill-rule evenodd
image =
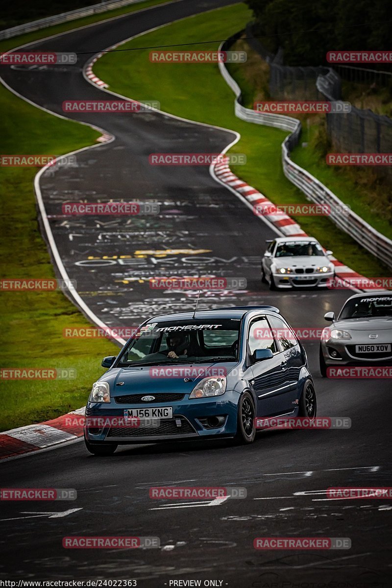
<instances>
[{"instance_id":1,"label":"blue Ford hatchback with plate MJ56 KNG","mask_svg":"<svg viewBox=\"0 0 392 588\"><path fill-rule=\"evenodd\" d=\"M94 455L130 443L252 443L257 417L316 416L305 350L274 306L154 316L102 366L86 406Z\"/></svg>"}]
</instances>

